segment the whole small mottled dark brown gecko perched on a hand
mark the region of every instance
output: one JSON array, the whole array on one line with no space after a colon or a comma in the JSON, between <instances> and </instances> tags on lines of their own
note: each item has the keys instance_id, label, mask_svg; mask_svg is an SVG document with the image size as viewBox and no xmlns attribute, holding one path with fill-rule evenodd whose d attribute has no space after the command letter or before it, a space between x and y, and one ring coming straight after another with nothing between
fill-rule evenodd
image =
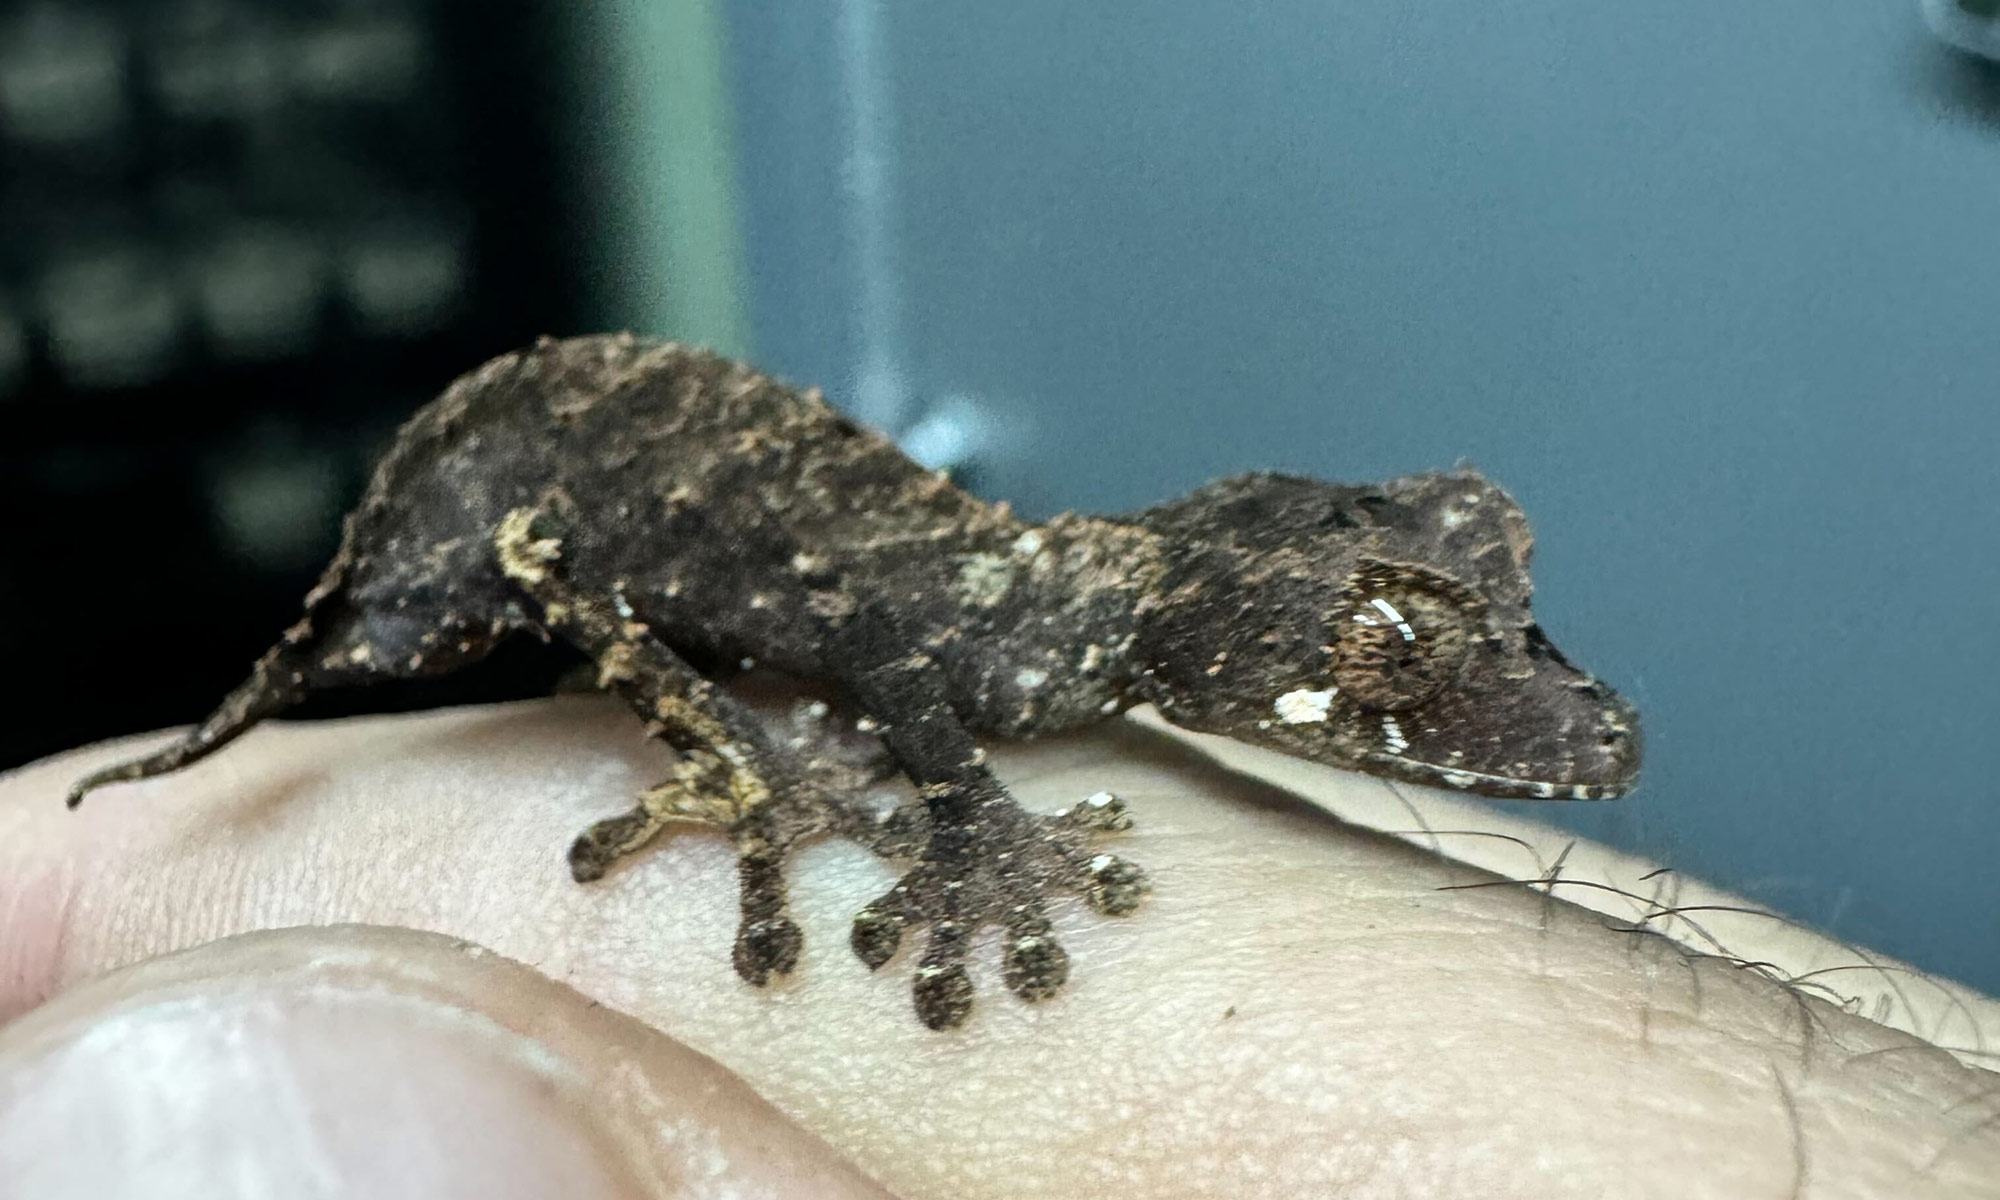
<instances>
[{"instance_id":1,"label":"whole small mottled dark brown gecko perched on a hand","mask_svg":"<svg viewBox=\"0 0 2000 1200\"><path fill-rule=\"evenodd\" d=\"M1016 518L904 458L818 394L630 336L544 340L460 378L404 426L340 554L200 728L102 784L176 770L316 688L450 672L514 634L588 654L678 750L638 804L570 848L602 876L668 824L740 856L736 970L792 970L784 862L838 834L912 860L854 920L878 968L912 926L918 1016L960 1024L966 956L1006 930L1008 988L1068 978L1046 900L1132 912L1146 876L1094 848L1094 796L1022 810L976 734L1170 720L1382 776L1496 796L1614 796L1636 718L1528 614L1528 526L1474 472L1348 488L1240 476L1126 518ZM776 738L692 662L754 658L832 684L918 802L876 818L854 770Z\"/></svg>"}]
</instances>

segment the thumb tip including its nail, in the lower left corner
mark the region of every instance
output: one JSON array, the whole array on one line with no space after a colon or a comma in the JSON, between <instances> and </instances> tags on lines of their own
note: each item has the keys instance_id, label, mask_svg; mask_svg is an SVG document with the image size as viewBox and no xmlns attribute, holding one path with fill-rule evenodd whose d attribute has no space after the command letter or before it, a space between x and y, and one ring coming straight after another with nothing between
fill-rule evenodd
<instances>
[{"instance_id":1,"label":"thumb tip including its nail, in the lower left corner","mask_svg":"<svg viewBox=\"0 0 2000 1200\"><path fill-rule=\"evenodd\" d=\"M708 1058L382 928L228 938L0 1030L0 1198L882 1196Z\"/></svg>"}]
</instances>

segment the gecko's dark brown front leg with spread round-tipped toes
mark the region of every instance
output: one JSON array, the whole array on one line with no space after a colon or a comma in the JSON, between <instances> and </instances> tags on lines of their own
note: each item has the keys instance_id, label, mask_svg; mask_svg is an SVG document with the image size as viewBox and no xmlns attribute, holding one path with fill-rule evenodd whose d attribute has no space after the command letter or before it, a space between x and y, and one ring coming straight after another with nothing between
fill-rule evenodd
<instances>
[{"instance_id":1,"label":"gecko's dark brown front leg with spread round-tipped toes","mask_svg":"<svg viewBox=\"0 0 2000 1200\"><path fill-rule=\"evenodd\" d=\"M882 726L890 754L920 788L920 808L898 814L920 828L920 862L854 918L854 952L888 962L910 926L928 926L912 994L936 1030L972 1010L966 956L980 928L1006 930L1004 980L1022 1000L1062 990L1070 960L1050 932L1046 900L1076 892L1098 912L1138 908L1146 874L1100 852L1100 832L1124 830L1124 806L1096 794L1042 816L1008 796L950 706L944 672L874 606L862 604L830 638L842 682Z\"/></svg>"}]
</instances>

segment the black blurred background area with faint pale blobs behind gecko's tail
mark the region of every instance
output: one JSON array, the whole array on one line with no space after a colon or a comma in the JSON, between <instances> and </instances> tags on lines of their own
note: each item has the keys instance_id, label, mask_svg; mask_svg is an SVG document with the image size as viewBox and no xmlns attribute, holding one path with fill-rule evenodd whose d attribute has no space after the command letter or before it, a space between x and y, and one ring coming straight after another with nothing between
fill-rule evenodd
<instances>
[{"instance_id":1,"label":"black blurred background area with faint pale blobs behind gecko's tail","mask_svg":"<svg viewBox=\"0 0 2000 1200\"><path fill-rule=\"evenodd\" d=\"M0 0L0 766L200 718L394 426L574 326L562 20Z\"/></svg>"}]
</instances>

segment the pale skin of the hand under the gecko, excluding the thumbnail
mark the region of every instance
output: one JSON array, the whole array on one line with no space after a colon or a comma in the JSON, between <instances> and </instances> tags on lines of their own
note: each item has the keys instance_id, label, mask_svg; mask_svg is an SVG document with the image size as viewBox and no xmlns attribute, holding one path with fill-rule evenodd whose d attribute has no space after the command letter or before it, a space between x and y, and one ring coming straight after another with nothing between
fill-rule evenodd
<instances>
[{"instance_id":1,"label":"pale skin of the hand under the gecko, excluding the thumbnail","mask_svg":"<svg viewBox=\"0 0 2000 1200\"><path fill-rule=\"evenodd\" d=\"M1560 900L1468 888L1496 876L1134 722L990 762L1030 810L1096 790L1130 806L1118 850L1148 864L1146 920L1054 906L1092 970L944 1034L842 946L894 878L854 844L796 856L808 950L764 990L730 968L726 840L668 834L570 882L568 836L666 758L614 702L280 722L106 794L94 820L62 810L78 772L156 744L0 778L0 1020L16 1018L0 1180L40 1128L22 1122L46 1108L52 1048L124 1028L102 1014L130 996L222 1004L258 978L414 998L540 1062L568 1080L536 1092L562 1112L550 1156L588 1164L568 1178L594 1194L724 1194L698 1184L780 1158L790 1182L774 1168L736 1194L876 1194L864 1178L908 1198L2000 1194L2000 1076L1978 1054ZM1310 770L1336 798L1384 788ZM1428 796L1404 788L1418 812ZM286 932L148 962L336 924L444 938ZM906 980L910 958L880 974ZM140 962L152 978L96 978ZM974 962L996 968L992 934ZM1956 1012L1954 1044L2000 1044L1990 1002L1958 994ZM692 1128L668 1116L676 1088L712 1136L662 1132Z\"/></svg>"}]
</instances>

